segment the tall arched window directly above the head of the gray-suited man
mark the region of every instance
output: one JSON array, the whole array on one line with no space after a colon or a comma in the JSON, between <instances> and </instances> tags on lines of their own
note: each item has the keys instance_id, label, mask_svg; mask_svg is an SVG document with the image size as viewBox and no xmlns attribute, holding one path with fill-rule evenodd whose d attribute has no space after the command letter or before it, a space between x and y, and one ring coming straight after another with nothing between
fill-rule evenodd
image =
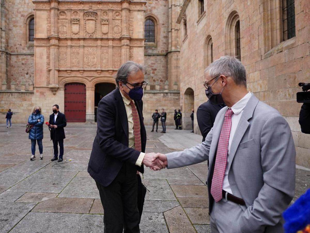
<instances>
[{"instance_id":1,"label":"tall arched window directly above the head of the gray-suited man","mask_svg":"<svg viewBox=\"0 0 310 233\"><path fill-rule=\"evenodd\" d=\"M225 53L241 60L240 21L237 11L232 11L225 27Z\"/></svg>"}]
</instances>

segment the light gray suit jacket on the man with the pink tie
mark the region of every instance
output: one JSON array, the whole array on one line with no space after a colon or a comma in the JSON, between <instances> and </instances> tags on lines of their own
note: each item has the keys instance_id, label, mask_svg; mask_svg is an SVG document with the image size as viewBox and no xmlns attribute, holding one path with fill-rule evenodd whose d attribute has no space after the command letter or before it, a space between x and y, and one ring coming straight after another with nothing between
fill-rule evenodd
<instances>
[{"instance_id":1,"label":"light gray suit jacket on the man with the pink tie","mask_svg":"<svg viewBox=\"0 0 310 233\"><path fill-rule=\"evenodd\" d=\"M209 159L209 210L215 155L227 107L219 111L214 127L201 144L166 154L168 168L184 167ZM232 194L245 200L240 232L283 232L282 212L295 189L295 146L288 123L280 113L251 96L232 139L228 181ZM233 214L233 213L232 213Z\"/></svg>"}]
</instances>

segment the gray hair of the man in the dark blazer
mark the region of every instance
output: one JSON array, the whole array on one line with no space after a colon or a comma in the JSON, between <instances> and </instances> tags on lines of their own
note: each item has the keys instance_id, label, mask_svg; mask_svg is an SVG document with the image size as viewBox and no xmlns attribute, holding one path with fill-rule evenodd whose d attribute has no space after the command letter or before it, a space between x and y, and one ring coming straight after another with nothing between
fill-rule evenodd
<instances>
[{"instance_id":1,"label":"gray hair of the man in the dark blazer","mask_svg":"<svg viewBox=\"0 0 310 233\"><path fill-rule=\"evenodd\" d=\"M122 64L118 68L116 78L115 78L117 88L119 88L119 84L118 84L119 81L126 83L128 76L136 74L138 71L144 72L144 66L136 62L133 62L133 61L128 61Z\"/></svg>"}]
</instances>

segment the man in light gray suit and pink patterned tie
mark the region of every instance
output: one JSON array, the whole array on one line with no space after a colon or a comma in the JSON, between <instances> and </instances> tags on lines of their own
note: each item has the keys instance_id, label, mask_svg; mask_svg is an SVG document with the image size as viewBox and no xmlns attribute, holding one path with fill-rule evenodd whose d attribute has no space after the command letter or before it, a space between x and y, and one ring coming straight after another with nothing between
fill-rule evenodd
<instances>
[{"instance_id":1,"label":"man in light gray suit and pink patterned tie","mask_svg":"<svg viewBox=\"0 0 310 233\"><path fill-rule=\"evenodd\" d=\"M227 107L219 111L204 142L158 153L157 161L176 168L209 159L212 232L283 232L281 214L295 188L295 147L288 123L247 91L246 70L234 57L210 64L204 86L211 101Z\"/></svg>"}]
</instances>

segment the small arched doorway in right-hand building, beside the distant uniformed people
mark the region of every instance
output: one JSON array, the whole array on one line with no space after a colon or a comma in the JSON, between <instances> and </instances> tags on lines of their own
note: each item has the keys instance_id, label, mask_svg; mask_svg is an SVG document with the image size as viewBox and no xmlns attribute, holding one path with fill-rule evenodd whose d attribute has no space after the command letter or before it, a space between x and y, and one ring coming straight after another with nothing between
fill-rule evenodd
<instances>
[{"instance_id":1,"label":"small arched doorway in right-hand building, beside the distant uniformed people","mask_svg":"<svg viewBox=\"0 0 310 233\"><path fill-rule=\"evenodd\" d=\"M182 127L184 130L192 130L192 119L190 116L194 108L194 90L190 87L184 92L183 106Z\"/></svg>"}]
</instances>

